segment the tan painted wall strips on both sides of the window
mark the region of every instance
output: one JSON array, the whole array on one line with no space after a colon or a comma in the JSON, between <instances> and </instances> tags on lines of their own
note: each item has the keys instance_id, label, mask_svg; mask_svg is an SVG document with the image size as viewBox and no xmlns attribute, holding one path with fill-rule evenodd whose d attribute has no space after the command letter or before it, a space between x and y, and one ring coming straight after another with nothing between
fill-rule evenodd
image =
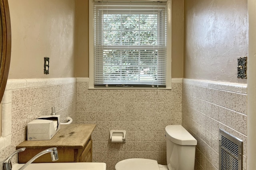
<instances>
[{"instance_id":1,"label":"tan painted wall strips on both sides of the window","mask_svg":"<svg viewBox=\"0 0 256 170\"><path fill-rule=\"evenodd\" d=\"M88 1L76 3L76 77L88 77ZM183 6L183 1L172 0L172 78L183 77Z\"/></svg>"}]
</instances>

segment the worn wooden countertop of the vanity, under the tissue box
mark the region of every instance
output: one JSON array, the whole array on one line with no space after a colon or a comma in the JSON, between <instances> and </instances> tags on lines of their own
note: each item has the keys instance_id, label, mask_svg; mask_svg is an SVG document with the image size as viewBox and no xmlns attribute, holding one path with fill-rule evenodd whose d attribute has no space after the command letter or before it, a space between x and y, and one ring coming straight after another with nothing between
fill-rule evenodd
<instances>
[{"instance_id":1,"label":"worn wooden countertop of the vanity, under the tissue box","mask_svg":"<svg viewBox=\"0 0 256 170\"><path fill-rule=\"evenodd\" d=\"M95 124L60 125L60 131L51 140L24 141L16 149L23 147L26 147L26 149L42 149L45 147L82 149L88 143L95 127Z\"/></svg>"}]
</instances>

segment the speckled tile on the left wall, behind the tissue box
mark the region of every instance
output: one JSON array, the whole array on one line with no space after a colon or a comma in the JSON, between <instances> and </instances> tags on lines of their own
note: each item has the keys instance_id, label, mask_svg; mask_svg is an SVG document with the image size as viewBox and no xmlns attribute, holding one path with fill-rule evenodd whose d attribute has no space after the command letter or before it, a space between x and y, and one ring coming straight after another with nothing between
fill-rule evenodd
<instances>
[{"instance_id":1,"label":"speckled tile on the left wall, behind the tissue box","mask_svg":"<svg viewBox=\"0 0 256 170\"><path fill-rule=\"evenodd\" d=\"M5 132L2 131L0 139L10 143L7 146L1 143L0 162L26 140L27 123L41 115L50 115L53 106L61 121L68 116L76 121L76 78L8 80L2 100ZM12 162L17 162L17 156Z\"/></svg>"}]
</instances>

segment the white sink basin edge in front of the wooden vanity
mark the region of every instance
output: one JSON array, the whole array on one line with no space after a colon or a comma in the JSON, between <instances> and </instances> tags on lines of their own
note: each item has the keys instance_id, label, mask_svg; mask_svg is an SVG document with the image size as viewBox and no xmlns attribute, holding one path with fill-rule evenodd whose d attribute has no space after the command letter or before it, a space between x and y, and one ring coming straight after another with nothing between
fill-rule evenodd
<instances>
[{"instance_id":1,"label":"white sink basin edge in front of the wooden vanity","mask_svg":"<svg viewBox=\"0 0 256 170\"><path fill-rule=\"evenodd\" d=\"M18 170L24 164L13 164L12 170ZM32 163L24 170L106 170L103 162L67 162L67 163Z\"/></svg>"}]
</instances>

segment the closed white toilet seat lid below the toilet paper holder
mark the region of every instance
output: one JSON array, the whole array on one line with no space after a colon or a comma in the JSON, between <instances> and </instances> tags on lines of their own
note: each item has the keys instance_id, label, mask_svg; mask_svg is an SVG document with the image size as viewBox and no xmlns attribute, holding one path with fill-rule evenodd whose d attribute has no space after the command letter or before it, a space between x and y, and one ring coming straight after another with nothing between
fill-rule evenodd
<instances>
[{"instance_id":1,"label":"closed white toilet seat lid below the toilet paper holder","mask_svg":"<svg viewBox=\"0 0 256 170\"><path fill-rule=\"evenodd\" d=\"M116 170L160 170L156 160L131 158L118 162Z\"/></svg>"}]
</instances>

